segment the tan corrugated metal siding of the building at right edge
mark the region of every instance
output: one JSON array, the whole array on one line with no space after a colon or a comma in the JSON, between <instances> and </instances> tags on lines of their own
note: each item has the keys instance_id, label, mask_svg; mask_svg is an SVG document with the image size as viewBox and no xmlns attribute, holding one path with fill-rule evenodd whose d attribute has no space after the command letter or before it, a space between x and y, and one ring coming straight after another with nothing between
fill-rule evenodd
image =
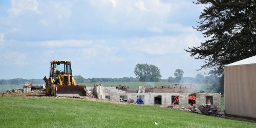
<instances>
[{"instance_id":1,"label":"tan corrugated metal siding of the building at right edge","mask_svg":"<svg viewBox=\"0 0 256 128\"><path fill-rule=\"evenodd\" d=\"M256 65L224 67L226 114L256 118Z\"/></svg>"}]
</instances>

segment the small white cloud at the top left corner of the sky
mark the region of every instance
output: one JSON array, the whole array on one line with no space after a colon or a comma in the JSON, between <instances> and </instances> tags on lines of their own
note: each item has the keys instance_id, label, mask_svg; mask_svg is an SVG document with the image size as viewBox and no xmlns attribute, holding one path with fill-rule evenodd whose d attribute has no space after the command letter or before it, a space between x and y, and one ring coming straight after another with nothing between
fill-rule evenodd
<instances>
[{"instance_id":1,"label":"small white cloud at the top left corner of the sky","mask_svg":"<svg viewBox=\"0 0 256 128\"><path fill-rule=\"evenodd\" d=\"M11 15L18 15L24 10L32 11L36 14L40 13L36 0L11 0L11 8L8 10Z\"/></svg>"}]
</instances>

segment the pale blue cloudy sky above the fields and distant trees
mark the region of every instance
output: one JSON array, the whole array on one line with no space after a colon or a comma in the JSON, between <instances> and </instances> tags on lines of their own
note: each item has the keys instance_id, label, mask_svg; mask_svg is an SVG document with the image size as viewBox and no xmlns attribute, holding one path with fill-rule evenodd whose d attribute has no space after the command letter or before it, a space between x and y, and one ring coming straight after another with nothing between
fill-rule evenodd
<instances>
[{"instance_id":1,"label":"pale blue cloudy sky above the fields and distant trees","mask_svg":"<svg viewBox=\"0 0 256 128\"><path fill-rule=\"evenodd\" d=\"M202 60L184 51L204 38L192 28L203 10L192 1L75 0L0 2L0 79L43 78L50 60L72 60L74 75L135 77L136 63L162 78L195 77Z\"/></svg>"}]
</instances>

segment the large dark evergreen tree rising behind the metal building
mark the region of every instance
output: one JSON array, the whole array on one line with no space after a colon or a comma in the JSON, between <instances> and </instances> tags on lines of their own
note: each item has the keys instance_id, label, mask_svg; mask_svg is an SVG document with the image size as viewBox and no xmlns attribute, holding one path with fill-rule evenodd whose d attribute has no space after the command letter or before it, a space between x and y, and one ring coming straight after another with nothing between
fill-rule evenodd
<instances>
[{"instance_id":1,"label":"large dark evergreen tree rising behind the metal building","mask_svg":"<svg viewBox=\"0 0 256 128\"><path fill-rule=\"evenodd\" d=\"M206 40L186 51L205 60L201 69L222 75L228 63L256 55L255 0L198 0L196 4L205 5L195 29Z\"/></svg>"}]
</instances>

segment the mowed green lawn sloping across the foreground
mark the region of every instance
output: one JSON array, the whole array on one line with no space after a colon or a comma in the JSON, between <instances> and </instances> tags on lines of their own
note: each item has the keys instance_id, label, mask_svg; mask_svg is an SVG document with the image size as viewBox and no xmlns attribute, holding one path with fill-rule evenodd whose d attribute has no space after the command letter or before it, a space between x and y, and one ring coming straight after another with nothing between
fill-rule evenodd
<instances>
[{"instance_id":1,"label":"mowed green lawn sloping across the foreground","mask_svg":"<svg viewBox=\"0 0 256 128\"><path fill-rule=\"evenodd\" d=\"M256 127L167 108L77 99L2 97L0 104L0 127Z\"/></svg>"}]
</instances>

